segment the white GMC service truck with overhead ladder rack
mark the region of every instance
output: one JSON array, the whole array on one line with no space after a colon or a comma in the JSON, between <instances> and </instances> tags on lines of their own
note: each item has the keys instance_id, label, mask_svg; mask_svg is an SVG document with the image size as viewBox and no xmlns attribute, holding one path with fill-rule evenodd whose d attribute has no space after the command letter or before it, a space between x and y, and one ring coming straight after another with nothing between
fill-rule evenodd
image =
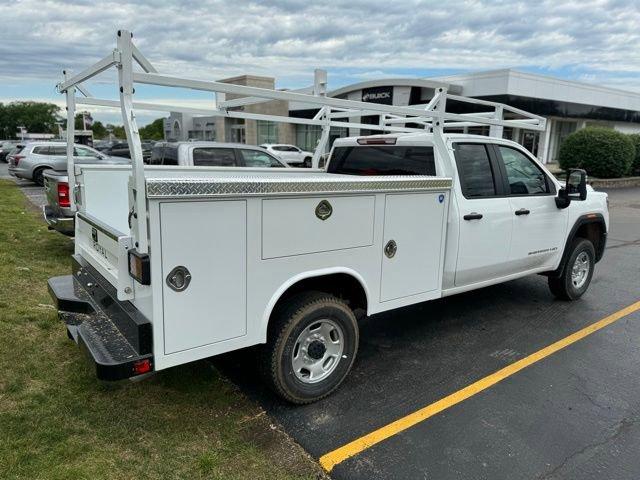
<instances>
[{"instance_id":1,"label":"white GMC service truck with overhead ladder rack","mask_svg":"<svg viewBox=\"0 0 640 480\"><path fill-rule=\"evenodd\" d=\"M134 61L144 73L133 72ZM160 75L120 31L112 56L59 85L70 118L76 103L113 104L75 94L88 94L81 83L111 65L133 166L74 166L69 156L73 273L49 280L70 338L101 379L259 346L273 390L309 403L351 369L363 315L531 274L574 300L602 258L606 194L588 187L581 170L558 182L522 146L499 138L505 126L544 130L535 115L462 97L455 99L490 111L449 113L454 96L443 89L421 107L327 98L322 73L313 95ZM336 140L326 171L145 167L133 108L167 107L133 102L134 82L244 95L228 103L220 95L207 114L317 122L315 166L331 126L345 125L340 119L379 114L373 127L388 133ZM290 119L225 108L265 99L320 110ZM446 133L479 124L494 136Z\"/></svg>"}]
</instances>

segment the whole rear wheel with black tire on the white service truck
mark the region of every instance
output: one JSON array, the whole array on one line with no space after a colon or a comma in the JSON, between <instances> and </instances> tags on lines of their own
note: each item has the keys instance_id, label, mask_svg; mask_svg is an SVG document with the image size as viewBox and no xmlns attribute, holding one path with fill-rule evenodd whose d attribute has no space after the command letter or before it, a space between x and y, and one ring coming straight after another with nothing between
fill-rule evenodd
<instances>
[{"instance_id":1,"label":"whole rear wheel with black tire on the white service truck","mask_svg":"<svg viewBox=\"0 0 640 480\"><path fill-rule=\"evenodd\" d=\"M302 293L274 312L267 343L258 354L259 368L265 383L284 400L312 403L345 379L358 341L356 317L344 301L322 292Z\"/></svg>"}]
</instances>

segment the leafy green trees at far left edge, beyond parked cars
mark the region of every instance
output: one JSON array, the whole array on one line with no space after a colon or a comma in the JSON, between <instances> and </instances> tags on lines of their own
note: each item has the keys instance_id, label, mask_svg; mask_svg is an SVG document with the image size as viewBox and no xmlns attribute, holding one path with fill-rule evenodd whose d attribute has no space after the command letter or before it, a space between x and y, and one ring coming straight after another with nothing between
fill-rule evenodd
<instances>
[{"instance_id":1,"label":"leafy green trees at far left edge, beyond parked cars","mask_svg":"<svg viewBox=\"0 0 640 480\"><path fill-rule=\"evenodd\" d=\"M45 102L0 103L0 135L17 138L18 127L25 127L31 133L58 133L60 108Z\"/></svg>"}]
</instances>

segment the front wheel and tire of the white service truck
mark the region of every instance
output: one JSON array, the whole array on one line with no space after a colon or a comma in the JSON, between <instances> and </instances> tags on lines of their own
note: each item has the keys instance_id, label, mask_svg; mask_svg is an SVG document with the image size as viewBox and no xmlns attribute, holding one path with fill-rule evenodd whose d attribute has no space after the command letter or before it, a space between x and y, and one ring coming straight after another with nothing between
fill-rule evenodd
<instances>
[{"instance_id":1,"label":"front wheel and tire of the white service truck","mask_svg":"<svg viewBox=\"0 0 640 480\"><path fill-rule=\"evenodd\" d=\"M562 275L549 277L551 293L561 300L580 298L589 288L596 265L595 248L589 240L576 238L569 248L571 253L562 269Z\"/></svg>"}]
</instances>

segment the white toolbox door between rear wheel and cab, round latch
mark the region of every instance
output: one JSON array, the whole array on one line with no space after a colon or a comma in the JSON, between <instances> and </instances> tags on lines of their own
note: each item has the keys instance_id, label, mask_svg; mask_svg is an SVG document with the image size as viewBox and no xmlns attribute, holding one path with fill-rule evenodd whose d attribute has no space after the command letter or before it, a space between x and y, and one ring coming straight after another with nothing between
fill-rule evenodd
<instances>
[{"instance_id":1,"label":"white toolbox door between rear wheel and cab, round latch","mask_svg":"<svg viewBox=\"0 0 640 480\"><path fill-rule=\"evenodd\" d=\"M386 196L381 301L440 288L446 195L442 192Z\"/></svg>"}]
</instances>

